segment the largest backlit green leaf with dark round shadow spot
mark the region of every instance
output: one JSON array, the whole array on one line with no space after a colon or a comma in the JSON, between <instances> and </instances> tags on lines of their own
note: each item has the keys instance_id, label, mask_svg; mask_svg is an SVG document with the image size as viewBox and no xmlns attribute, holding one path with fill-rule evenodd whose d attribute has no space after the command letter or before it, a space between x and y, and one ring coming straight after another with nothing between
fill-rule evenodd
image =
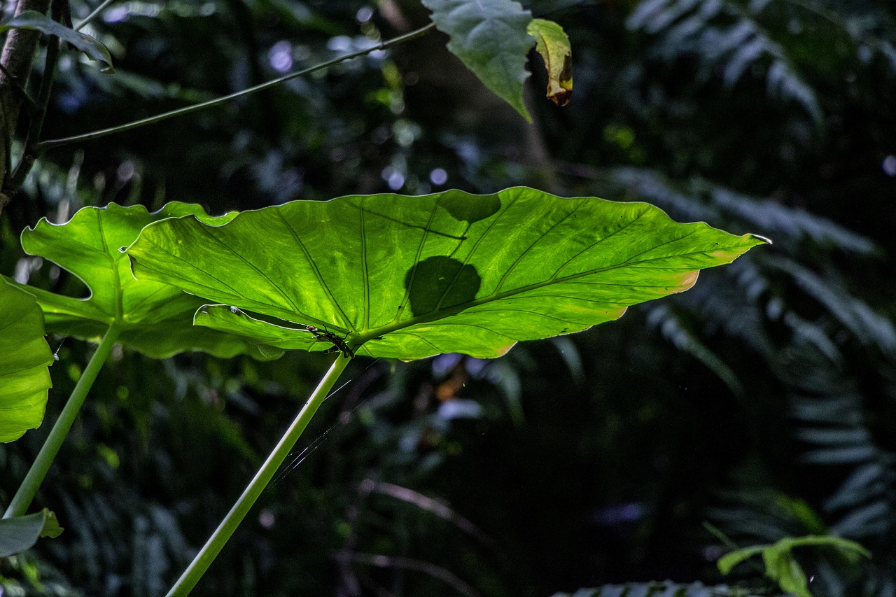
<instances>
[{"instance_id":1,"label":"largest backlit green leaf with dark round shadow spot","mask_svg":"<svg viewBox=\"0 0 896 597\"><path fill-rule=\"evenodd\" d=\"M296 201L223 226L170 219L127 254L138 279L223 303L197 324L282 349L490 358L687 290L702 268L764 242L646 203L517 187Z\"/></svg>"}]
</instances>

